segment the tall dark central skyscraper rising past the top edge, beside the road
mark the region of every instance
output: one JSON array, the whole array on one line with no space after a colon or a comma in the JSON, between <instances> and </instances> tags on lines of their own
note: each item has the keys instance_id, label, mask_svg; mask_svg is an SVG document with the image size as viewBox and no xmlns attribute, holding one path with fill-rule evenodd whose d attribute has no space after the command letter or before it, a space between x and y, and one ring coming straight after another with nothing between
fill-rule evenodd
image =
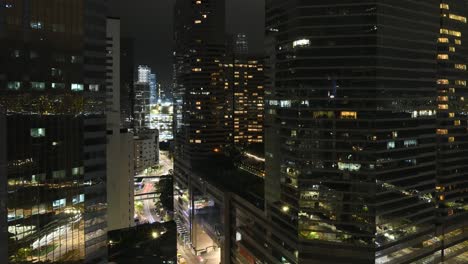
<instances>
[{"instance_id":1,"label":"tall dark central skyscraper rising past the top edge, beside the road","mask_svg":"<svg viewBox=\"0 0 468 264\"><path fill-rule=\"evenodd\" d=\"M177 192L187 198L178 199L175 211L180 228L190 230L188 239L198 247L196 172L232 140L232 95L222 65L225 1L178 0L174 12L174 180Z\"/></svg>"}]
</instances>

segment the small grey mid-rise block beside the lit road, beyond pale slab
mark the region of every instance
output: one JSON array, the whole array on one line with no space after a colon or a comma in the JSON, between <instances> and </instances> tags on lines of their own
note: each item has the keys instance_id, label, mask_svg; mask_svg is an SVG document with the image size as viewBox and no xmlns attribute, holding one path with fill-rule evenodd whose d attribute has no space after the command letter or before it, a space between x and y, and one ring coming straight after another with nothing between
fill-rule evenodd
<instances>
[{"instance_id":1,"label":"small grey mid-rise block beside the lit road, beyond pale slab","mask_svg":"<svg viewBox=\"0 0 468 264\"><path fill-rule=\"evenodd\" d=\"M135 132L135 175L143 173L159 163L159 133L157 129Z\"/></svg>"}]
</instances>

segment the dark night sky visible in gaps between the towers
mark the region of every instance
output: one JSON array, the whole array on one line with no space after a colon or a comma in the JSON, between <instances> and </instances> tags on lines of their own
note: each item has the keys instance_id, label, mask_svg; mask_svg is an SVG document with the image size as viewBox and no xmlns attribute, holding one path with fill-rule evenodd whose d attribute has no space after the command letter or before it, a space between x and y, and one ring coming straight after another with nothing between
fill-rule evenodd
<instances>
[{"instance_id":1,"label":"dark night sky visible in gaps between the towers","mask_svg":"<svg viewBox=\"0 0 468 264\"><path fill-rule=\"evenodd\" d=\"M264 0L226 0L227 32L246 33L250 50L263 51ZM175 0L112 0L123 37L135 39L135 63L146 64L163 85L172 79L172 13Z\"/></svg>"}]
</instances>

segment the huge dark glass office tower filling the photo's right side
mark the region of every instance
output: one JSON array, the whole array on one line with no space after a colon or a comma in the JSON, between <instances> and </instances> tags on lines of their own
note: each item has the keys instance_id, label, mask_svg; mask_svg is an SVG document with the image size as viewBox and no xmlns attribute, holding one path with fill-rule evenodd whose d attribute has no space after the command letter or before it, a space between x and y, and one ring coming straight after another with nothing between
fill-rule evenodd
<instances>
[{"instance_id":1,"label":"huge dark glass office tower filling the photo's right side","mask_svg":"<svg viewBox=\"0 0 468 264\"><path fill-rule=\"evenodd\" d=\"M293 241L278 261L467 261L465 16L267 1L267 215Z\"/></svg>"}]
</instances>

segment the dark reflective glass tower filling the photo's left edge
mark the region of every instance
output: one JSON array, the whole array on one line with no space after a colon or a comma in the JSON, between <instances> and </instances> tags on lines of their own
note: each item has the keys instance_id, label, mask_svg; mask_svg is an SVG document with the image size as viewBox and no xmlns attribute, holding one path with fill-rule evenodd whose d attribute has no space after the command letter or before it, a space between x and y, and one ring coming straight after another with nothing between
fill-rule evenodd
<instances>
[{"instance_id":1,"label":"dark reflective glass tower filling the photo's left edge","mask_svg":"<svg viewBox=\"0 0 468 264\"><path fill-rule=\"evenodd\" d=\"M0 5L10 262L107 259L105 12L95 0Z\"/></svg>"}]
</instances>

